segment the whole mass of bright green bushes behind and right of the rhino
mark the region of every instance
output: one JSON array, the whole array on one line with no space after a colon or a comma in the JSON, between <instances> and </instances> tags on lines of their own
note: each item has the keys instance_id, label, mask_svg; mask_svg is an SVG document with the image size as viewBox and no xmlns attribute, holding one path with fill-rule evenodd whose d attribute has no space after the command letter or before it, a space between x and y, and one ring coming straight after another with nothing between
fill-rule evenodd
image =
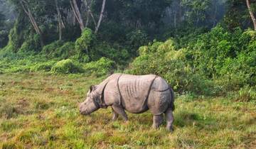
<instances>
[{"instance_id":1,"label":"whole mass of bright green bushes behind and right of the rhino","mask_svg":"<svg viewBox=\"0 0 256 149\"><path fill-rule=\"evenodd\" d=\"M216 26L194 38L181 49L174 40L139 48L128 72L160 75L181 93L220 95L242 87L255 91L255 31Z\"/></svg>"}]
</instances>

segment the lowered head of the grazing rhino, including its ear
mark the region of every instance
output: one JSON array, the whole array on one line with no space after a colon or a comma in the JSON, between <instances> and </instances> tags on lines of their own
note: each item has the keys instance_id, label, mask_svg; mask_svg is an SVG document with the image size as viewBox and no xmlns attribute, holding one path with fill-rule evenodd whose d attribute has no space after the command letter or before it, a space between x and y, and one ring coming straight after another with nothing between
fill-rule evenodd
<instances>
[{"instance_id":1,"label":"lowered head of the grazing rhino, including its ear","mask_svg":"<svg viewBox=\"0 0 256 149\"><path fill-rule=\"evenodd\" d=\"M100 94L95 92L96 86L92 85L90 91L87 92L86 99L80 104L80 114L88 115L92 112L100 109L98 105L100 100Z\"/></svg>"}]
</instances>

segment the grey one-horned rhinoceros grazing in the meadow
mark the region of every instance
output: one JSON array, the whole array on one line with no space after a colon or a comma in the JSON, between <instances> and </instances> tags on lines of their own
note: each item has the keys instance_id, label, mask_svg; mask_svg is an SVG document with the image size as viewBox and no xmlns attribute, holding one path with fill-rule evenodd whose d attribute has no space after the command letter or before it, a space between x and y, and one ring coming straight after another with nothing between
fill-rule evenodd
<instances>
[{"instance_id":1,"label":"grey one-horned rhinoceros grazing in the meadow","mask_svg":"<svg viewBox=\"0 0 256 149\"><path fill-rule=\"evenodd\" d=\"M113 121L118 116L128 121L125 111L141 114L150 110L154 115L153 128L159 128L165 114L166 129L173 131L174 91L157 75L110 75L90 87L85 101L80 104L80 114L88 115L108 106L112 107Z\"/></svg>"}]
</instances>

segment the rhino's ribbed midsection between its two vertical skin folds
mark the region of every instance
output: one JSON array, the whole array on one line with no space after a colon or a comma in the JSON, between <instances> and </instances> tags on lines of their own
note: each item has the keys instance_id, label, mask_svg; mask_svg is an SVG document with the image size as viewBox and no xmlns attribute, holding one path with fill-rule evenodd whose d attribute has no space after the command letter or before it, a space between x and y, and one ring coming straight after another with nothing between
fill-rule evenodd
<instances>
[{"instance_id":1,"label":"rhino's ribbed midsection between its two vertical skin folds","mask_svg":"<svg viewBox=\"0 0 256 149\"><path fill-rule=\"evenodd\" d=\"M119 78L119 91L122 96L122 106L132 113L142 113L148 109L146 98L151 83L156 75L122 75Z\"/></svg>"}]
</instances>

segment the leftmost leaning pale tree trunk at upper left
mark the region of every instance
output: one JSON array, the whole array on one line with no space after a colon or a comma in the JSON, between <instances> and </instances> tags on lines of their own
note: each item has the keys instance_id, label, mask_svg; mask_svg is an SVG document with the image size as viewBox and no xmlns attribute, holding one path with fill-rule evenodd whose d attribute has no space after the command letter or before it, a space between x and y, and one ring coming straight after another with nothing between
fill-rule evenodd
<instances>
[{"instance_id":1,"label":"leftmost leaning pale tree trunk at upper left","mask_svg":"<svg viewBox=\"0 0 256 149\"><path fill-rule=\"evenodd\" d=\"M24 5L24 4L26 5ZM41 43L41 47L43 47L44 45L44 42L43 42L43 33L41 32L41 29L38 27L38 24L36 23L36 20L35 18L33 17L32 13L31 13L31 10L29 9L28 7L28 4L26 1L24 0L21 0L20 1L20 4L23 8L23 11L25 11L25 13L27 14L28 18L29 18L29 21L31 21L31 24L33 26L33 28L35 29L36 33L40 36L40 43Z\"/></svg>"}]
</instances>

